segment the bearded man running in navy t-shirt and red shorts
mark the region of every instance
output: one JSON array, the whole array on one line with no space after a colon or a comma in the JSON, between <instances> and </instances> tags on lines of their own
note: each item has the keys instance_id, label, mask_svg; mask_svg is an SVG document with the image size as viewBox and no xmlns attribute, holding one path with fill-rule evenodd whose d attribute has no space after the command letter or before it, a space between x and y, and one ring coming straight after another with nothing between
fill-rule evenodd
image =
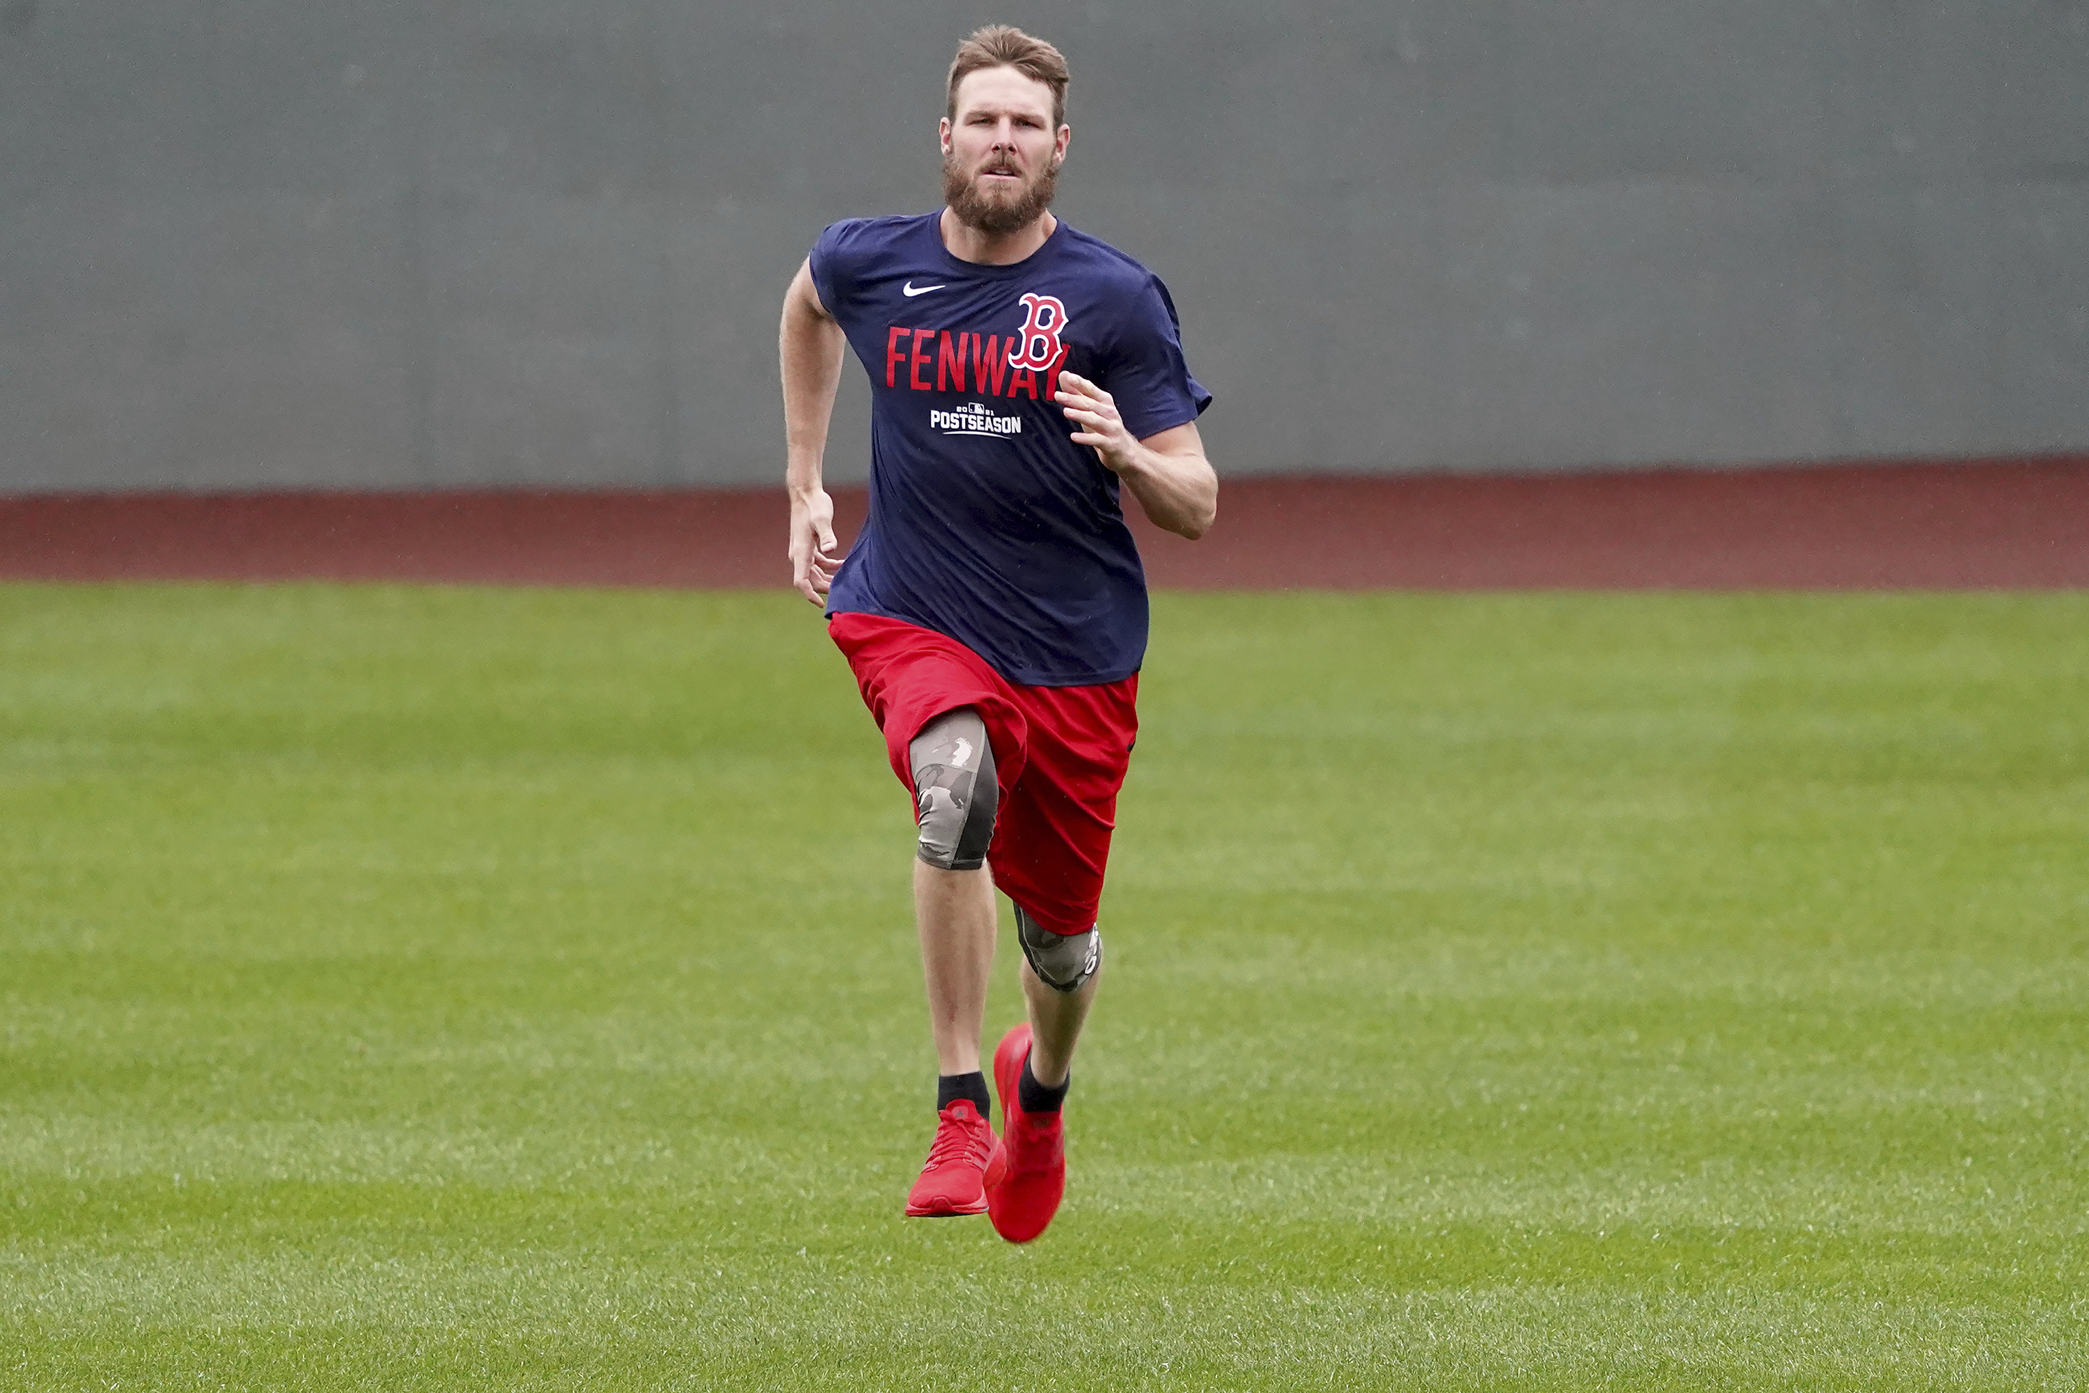
<instances>
[{"instance_id":1,"label":"bearded man running in navy t-shirt and red shorts","mask_svg":"<svg viewBox=\"0 0 2089 1393\"><path fill-rule=\"evenodd\" d=\"M1065 1190L1059 1105L1095 1000L1095 923L1139 721L1147 585L1124 526L1201 537L1218 510L1166 286L1051 215L1065 58L967 38L942 132L946 207L827 228L783 299L790 562L825 604L913 794L913 896L936 1138L909 1215L988 1213L1011 1243ZM871 514L846 562L821 487L850 345L871 374ZM1015 902L1030 1019L980 1032L994 888Z\"/></svg>"}]
</instances>

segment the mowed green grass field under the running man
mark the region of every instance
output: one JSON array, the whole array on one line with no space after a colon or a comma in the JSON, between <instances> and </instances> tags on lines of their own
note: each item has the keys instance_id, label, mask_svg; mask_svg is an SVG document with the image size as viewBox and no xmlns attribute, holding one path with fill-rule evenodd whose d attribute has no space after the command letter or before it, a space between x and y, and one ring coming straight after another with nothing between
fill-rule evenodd
<instances>
[{"instance_id":1,"label":"mowed green grass field under the running man","mask_svg":"<svg viewBox=\"0 0 2089 1393\"><path fill-rule=\"evenodd\" d=\"M1164 595L1143 716L1013 1249L802 601L0 587L0 1387L2089 1385L2089 595Z\"/></svg>"}]
</instances>

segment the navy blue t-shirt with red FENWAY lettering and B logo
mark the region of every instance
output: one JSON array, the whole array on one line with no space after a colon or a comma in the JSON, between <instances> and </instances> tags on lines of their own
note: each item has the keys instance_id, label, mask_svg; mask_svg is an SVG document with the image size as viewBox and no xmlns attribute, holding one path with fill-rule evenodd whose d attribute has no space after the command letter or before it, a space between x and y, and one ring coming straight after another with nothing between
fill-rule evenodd
<instances>
[{"instance_id":1,"label":"navy blue t-shirt with red FENWAY lettering and B logo","mask_svg":"<svg viewBox=\"0 0 2089 1393\"><path fill-rule=\"evenodd\" d=\"M1197 420L1174 301L1063 221L1015 265L959 261L942 213L827 228L813 286L871 374L871 516L827 614L946 633L1030 687L1113 683L1147 652L1118 476L1053 401L1107 391L1132 436Z\"/></svg>"}]
</instances>

